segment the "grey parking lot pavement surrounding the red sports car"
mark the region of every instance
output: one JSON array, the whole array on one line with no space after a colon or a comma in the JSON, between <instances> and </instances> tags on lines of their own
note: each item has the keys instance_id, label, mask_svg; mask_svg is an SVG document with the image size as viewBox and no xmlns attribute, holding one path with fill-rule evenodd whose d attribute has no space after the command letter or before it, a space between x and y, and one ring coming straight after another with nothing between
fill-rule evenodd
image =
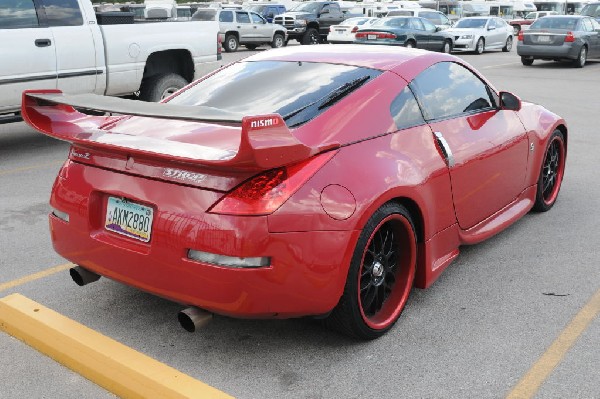
<instances>
[{"instance_id":1,"label":"grey parking lot pavement surrounding the red sports car","mask_svg":"<svg viewBox=\"0 0 600 399\"><path fill-rule=\"evenodd\" d=\"M460 56L497 89L566 119L565 180L550 212L461 248L384 337L357 342L313 320L221 316L190 334L177 323L179 304L108 279L78 287L47 223L68 145L23 123L0 125L0 298L18 293L237 398L600 398L600 63L523 67L515 50ZM0 397L114 397L6 333L0 353Z\"/></svg>"}]
</instances>

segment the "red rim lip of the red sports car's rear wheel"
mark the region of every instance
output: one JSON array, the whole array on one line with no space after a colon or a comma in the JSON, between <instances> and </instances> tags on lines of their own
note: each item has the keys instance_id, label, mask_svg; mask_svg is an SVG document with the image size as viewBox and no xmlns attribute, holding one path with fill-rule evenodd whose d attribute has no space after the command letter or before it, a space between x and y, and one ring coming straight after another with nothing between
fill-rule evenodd
<instances>
[{"instance_id":1,"label":"red rim lip of the red sports car's rear wheel","mask_svg":"<svg viewBox=\"0 0 600 399\"><path fill-rule=\"evenodd\" d=\"M396 280L396 284L400 281L404 281L405 287L402 292L397 292L397 290L393 290L392 294L386 299L387 304L384 305L384 307L378 312L378 314L375 315L374 318L369 318L365 314L363 307L362 307L362 303L361 303L362 300L361 300L361 296L360 296L360 276L361 276L362 270L363 270L365 253L366 253L366 250L367 250L369 244L373 240L373 236L379 231L379 228L383 224L387 223L390 220L397 220L397 221L401 222L405 229L405 232L409 233L409 235L410 235L410 239L405 240L405 241L408 241L408 246L410 248L408 257L402 257L401 267L398 269L400 272L400 275L402 275L403 272L406 272L405 273L406 275L402 276L400 278L397 278L397 280ZM363 255L361 258L361 263L360 263L360 269L359 269L358 276L357 276L357 278L358 278L357 294L358 294L358 305L359 305L358 308L360 310L360 315L367 326L369 326L373 330L385 330L386 328L388 328L392 324L394 324L394 322L396 321L396 319L398 318L398 316L404 309L404 306L408 300L408 296L412 289L415 272L416 272L415 267L414 267L416 264L416 248L417 248L416 238L414 236L413 227L412 227L412 224L410 223L410 221L408 221L408 219L406 217L404 217L403 215L392 214L392 215L389 215L388 217L386 217L385 219L383 219L381 222L379 222L377 227L371 233L371 236L369 237L369 240L367 242L368 242L368 244L365 248L365 251L363 252ZM404 243L404 244L406 244L406 243ZM405 252L406 251L403 251L403 253L405 253ZM402 267L402 266L406 266L406 265L411 266L411 267L408 267L408 268ZM390 300L395 300L396 305L393 306L392 309L387 309L387 308L391 307ZM386 315L379 314L379 313L386 313L386 312L387 312ZM379 320L379 319L381 319L381 320Z\"/></svg>"}]
</instances>

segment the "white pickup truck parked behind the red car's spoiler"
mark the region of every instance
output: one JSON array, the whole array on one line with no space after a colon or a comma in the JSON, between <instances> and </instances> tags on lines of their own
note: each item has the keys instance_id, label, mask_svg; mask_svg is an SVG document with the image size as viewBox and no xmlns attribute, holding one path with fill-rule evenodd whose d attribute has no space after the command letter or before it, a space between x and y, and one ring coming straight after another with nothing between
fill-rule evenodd
<instances>
[{"instance_id":1,"label":"white pickup truck parked behind the red car's spoiler","mask_svg":"<svg viewBox=\"0 0 600 399\"><path fill-rule=\"evenodd\" d=\"M19 119L26 89L159 101L218 67L218 33L218 22L97 18L89 0L0 0L0 123Z\"/></svg>"}]
</instances>

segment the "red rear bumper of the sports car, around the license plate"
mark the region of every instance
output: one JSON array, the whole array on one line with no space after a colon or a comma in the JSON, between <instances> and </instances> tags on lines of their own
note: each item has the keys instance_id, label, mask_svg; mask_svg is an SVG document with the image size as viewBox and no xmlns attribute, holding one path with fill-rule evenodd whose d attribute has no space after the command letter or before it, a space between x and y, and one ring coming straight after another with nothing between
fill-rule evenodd
<instances>
[{"instance_id":1,"label":"red rear bumper of the sports car, around the license plate","mask_svg":"<svg viewBox=\"0 0 600 399\"><path fill-rule=\"evenodd\" d=\"M68 179L57 178L51 205L69 214L69 222L50 215L52 243L61 256L88 270L235 317L325 314L342 294L360 231L270 233L268 217L205 214L214 198L199 198L198 188L81 165L68 172ZM155 208L149 243L104 229L108 195ZM270 257L271 265L216 266L189 259L189 249Z\"/></svg>"}]
</instances>

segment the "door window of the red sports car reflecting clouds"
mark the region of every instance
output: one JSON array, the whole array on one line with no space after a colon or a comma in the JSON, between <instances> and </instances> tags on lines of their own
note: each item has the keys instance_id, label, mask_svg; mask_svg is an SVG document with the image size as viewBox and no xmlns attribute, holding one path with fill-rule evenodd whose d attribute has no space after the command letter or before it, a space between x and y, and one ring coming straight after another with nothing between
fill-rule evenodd
<instances>
[{"instance_id":1,"label":"door window of the red sports car reflecting clouds","mask_svg":"<svg viewBox=\"0 0 600 399\"><path fill-rule=\"evenodd\" d=\"M454 62L440 62L411 82L426 120L476 113L496 105L491 89L473 72Z\"/></svg>"}]
</instances>

